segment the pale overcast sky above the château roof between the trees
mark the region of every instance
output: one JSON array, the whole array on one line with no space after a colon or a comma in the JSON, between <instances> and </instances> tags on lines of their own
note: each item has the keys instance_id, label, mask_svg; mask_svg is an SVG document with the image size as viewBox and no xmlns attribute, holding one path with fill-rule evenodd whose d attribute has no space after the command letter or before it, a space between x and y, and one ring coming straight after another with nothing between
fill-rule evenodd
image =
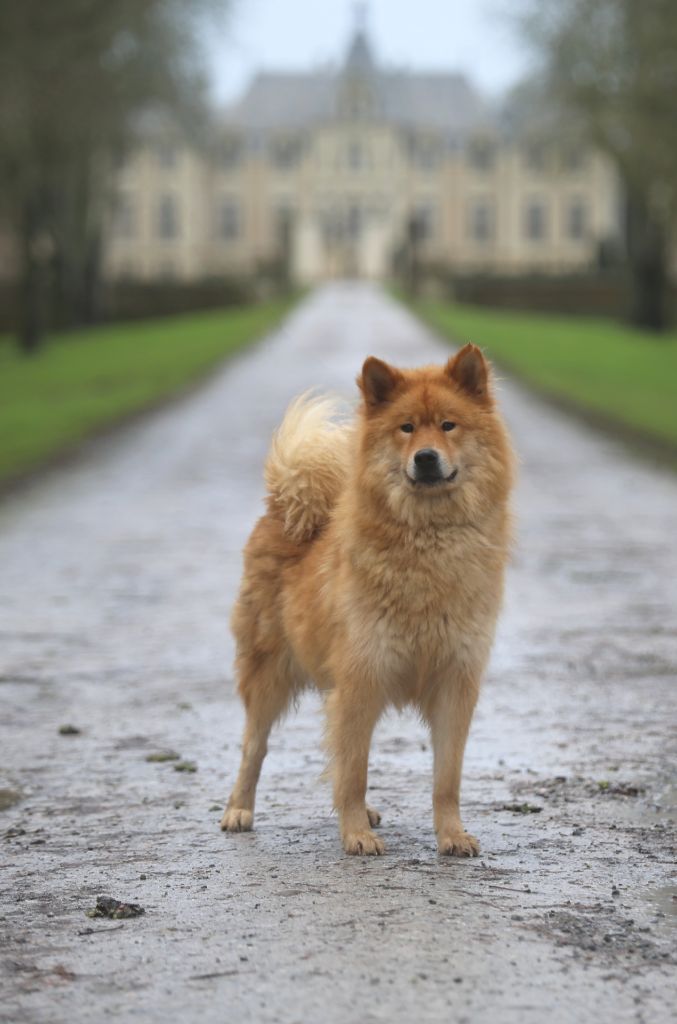
<instances>
[{"instance_id":1,"label":"pale overcast sky above the ch\u00e2teau roof between the trees","mask_svg":"<svg viewBox=\"0 0 677 1024\"><path fill-rule=\"evenodd\" d=\"M227 101L258 70L307 70L337 62L355 24L366 20L388 65L465 72L499 94L528 70L510 12L519 0L235 0L224 32L210 35L214 93Z\"/></svg>"}]
</instances>

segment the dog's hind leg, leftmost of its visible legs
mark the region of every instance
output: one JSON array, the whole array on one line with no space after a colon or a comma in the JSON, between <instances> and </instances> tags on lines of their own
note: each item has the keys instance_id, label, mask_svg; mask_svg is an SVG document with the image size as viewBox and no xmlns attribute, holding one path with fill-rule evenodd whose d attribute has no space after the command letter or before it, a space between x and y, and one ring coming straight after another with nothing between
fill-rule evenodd
<instances>
[{"instance_id":1,"label":"dog's hind leg, leftmost of its visible legs","mask_svg":"<svg viewBox=\"0 0 677 1024\"><path fill-rule=\"evenodd\" d=\"M292 671L266 659L256 666L241 665L240 693L247 720L240 772L228 799L221 829L249 831L254 823L254 802L261 765L268 749L270 729L287 711L297 689Z\"/></svg>"}]
</instances>

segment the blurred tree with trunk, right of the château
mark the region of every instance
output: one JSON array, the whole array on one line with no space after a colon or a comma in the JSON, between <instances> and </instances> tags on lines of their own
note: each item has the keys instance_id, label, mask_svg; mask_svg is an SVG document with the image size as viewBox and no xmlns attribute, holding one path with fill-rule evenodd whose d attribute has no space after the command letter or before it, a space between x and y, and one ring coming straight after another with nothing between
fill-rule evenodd
<instances>
[{"instance_id":1,"label":"blurred tree with trunk, right of the ch\u00e2teau","mask_svg":"<svg viewBox=\"0 0 677 1024\"><path fill-rule=\"evenodd\" d=\"M677 236L677 3L536 0L528 10L551 94L619 170L632 319L660 331Z\"/></svg>"}]
</instances>

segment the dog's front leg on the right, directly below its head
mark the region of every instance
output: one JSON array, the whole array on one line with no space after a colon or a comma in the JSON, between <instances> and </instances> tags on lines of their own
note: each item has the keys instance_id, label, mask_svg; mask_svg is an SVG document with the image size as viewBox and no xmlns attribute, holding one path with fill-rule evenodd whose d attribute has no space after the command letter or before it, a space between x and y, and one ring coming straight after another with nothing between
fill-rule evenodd
<instances>
[{"instance_id":1,"label":"dog's front leg on the right, directly below its head","mask_svg":"<svg viewBox=\"0 0 677 1024\"><path fill-rule=\"evenodd\" d=\"M476 857L479 843L461 822L463 754L479 683L457 677L437 688L427 718L434 758L432 807L437 849L456 857Z\"/></svg>"}]
</instances>

